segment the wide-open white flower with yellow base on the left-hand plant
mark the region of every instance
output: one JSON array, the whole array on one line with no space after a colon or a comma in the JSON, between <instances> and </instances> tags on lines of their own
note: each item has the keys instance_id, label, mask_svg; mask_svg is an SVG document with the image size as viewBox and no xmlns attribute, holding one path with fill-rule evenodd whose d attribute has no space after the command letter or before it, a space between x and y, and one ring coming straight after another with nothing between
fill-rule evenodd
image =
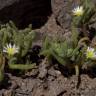
<instances>
[{"instance_id":1,"label":"wide-open white flower with yellow base on the left-hand plant","mask_svg":"<svg viewBox=\"0 0 96 96\"><path fill-rule=\"evenodd\" d=\"M7 44L6 47L4 47L3 52L7 53L8 55L14 55L19 52L19 47L15 44Z\"/></svg>"}]
</instances>

